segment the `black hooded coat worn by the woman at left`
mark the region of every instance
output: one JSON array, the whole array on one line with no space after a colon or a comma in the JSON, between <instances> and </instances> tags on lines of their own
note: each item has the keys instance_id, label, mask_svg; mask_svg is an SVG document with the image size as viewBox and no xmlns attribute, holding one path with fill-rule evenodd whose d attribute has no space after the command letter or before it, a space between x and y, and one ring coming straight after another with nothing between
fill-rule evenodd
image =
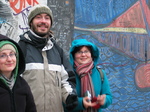
<instances>
[{"instance_id":1,"label":"black hooded coat worn by the woman at left","mask_svg":"<svg viewBox=\"0 0 150 112\"><path fill-rule=\"evenodd\" d=\"M0 112L36 112L33 95L27 82L20 76L25 70L25 60L19 45L0 34L0 41L12 42L18 49L18 74L12 90L0 79Z\"/></svg>"}]
</instances>

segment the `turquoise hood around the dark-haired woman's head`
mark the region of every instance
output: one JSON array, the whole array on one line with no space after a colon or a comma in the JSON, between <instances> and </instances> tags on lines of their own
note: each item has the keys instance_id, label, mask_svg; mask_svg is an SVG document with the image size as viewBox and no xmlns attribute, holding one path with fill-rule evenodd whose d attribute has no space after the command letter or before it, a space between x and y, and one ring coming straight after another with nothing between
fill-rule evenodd
<instances>
[{"instance_id":1,"label":"turquoise hood around the dark-haired woman's head","mask_svg":"<svg viewBox=\"0 0 150 112\"><path fill-rule=\"evenodd\" d=\"M70 63L71 63L71 65L73 66L73 64L74 64L72 52L74 51L74 49L76 47L80 47L80 46L90 46L92 48L94 66L96 66L98 63L98 60L99 60L99 49L96 45L87 41L86 39L76 39L76 40L72 41L72 45L70 48Z\"/></svg>"}]
</instances>

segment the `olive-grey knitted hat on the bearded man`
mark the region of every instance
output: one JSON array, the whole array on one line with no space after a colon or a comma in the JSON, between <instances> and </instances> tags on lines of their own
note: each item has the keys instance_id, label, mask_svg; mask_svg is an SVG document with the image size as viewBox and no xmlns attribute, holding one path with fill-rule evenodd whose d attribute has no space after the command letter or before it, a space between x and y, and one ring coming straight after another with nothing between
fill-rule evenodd
<instances>
[{"instance_id":1,"label":"olive-grey knitted hat on the bearded man","mask_svg":"<svg viewBox=\"0 0 150 112\"><path fill-rule=\"evenodd\" d=\"M50 16L50 18L51 18L51 23L53 23L52 10L46 5L38 4L38 5L33 6L31 8L31 10L29 11L29 14L28 14L28 25L30 26L30 22L32 21L32 19L36 15L41 14L41 13L48 14Z\"/></svg>"}]
</instances>

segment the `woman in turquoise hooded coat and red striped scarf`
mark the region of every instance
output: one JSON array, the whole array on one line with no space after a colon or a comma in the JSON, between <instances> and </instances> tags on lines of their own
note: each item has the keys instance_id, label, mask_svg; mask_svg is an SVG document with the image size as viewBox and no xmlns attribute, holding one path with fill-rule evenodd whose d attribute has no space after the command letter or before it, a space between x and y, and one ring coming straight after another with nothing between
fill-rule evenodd
<instances>
[{"instance_id":1,"label":"woman in turquoise hooded coat and red striped scarf","mask_svg":"<svg viewBox=\"0 0 150 112\"><path fill-rule=\"evenodd\" d=\"M76 90L78 106L74 112L101 112L112 103L109 82L103 70L104 81L96 65L99 59L99 50L86 39L77 39L72 42L70 62L76 73Z\"/></svg>"}]
</instances>

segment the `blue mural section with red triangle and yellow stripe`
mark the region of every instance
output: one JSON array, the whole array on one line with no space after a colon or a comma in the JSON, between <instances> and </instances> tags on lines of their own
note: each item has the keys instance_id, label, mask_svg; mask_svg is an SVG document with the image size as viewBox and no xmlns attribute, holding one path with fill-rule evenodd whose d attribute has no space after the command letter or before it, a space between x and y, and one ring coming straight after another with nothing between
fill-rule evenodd
<instances>
[{"instance_id":1,"label":"blue mural section with red triangle and yellow stripe","mask_svg":"<svg viewBox=\"0 0 150 112\"><path fill-rule=\"evenodd\" d=\"M105 112L150 112L150 0L76 0L74 39L99 46L113 104Z\"/></svg>"}]
</instances>

